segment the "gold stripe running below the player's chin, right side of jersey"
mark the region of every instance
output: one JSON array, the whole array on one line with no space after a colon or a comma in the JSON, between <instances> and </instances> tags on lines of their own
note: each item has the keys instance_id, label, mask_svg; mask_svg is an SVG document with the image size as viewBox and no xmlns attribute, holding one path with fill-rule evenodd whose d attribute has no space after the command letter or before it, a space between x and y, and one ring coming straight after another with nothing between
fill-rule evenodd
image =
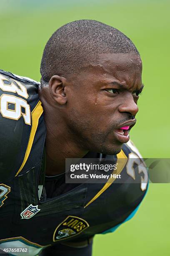
<instances>
[{"instance_id":1,"label":"gold stripe running below the player's chin, right side of jersey","mask_svg":"<svg viewBox=\"0 0 170 256\"><path fill-rule=\"evenodd\" d=\"M125 160L122 161L122 159L125 159ZM128 161L128 157L125 155L123 150L121 150L120 153L117 154L117 163L116 163L117 169L116 169L115 174L120 174L122 172L127 161ZM112 172L112 174L113 174L113 172ZM92 202L94 202L98 197L100 197L100 195L103 192L105 192L105 190L108 189L108 187L110 187L110 185L115 181L115 179L116 178L109 178L108 181L106 182L106 184L102 187L102 189L100 189L100 191L89 202L87 202L87 204L84 206L84 208L87 207L88 205L90 205Z\"/></svg>"}]
</instances>

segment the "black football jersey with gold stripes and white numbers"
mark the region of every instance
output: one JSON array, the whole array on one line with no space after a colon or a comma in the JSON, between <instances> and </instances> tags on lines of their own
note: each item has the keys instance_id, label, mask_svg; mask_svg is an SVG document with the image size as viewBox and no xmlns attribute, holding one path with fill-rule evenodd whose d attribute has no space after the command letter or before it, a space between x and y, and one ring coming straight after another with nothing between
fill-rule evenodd
<instances>
[{"instance_id":1,"label":"black football jersey with gold stripes and white numbers","mask_svg":"<svg viewBox=\"0 0 170 256\"><path fill-rule=\"evenodd\" d=\"M63 176L45 178L46 128L38 86L0 71L0 248L26 247L31 256L56 243L84 241L114 230L133 215L148 184L145 167L136 172L129 163L130 157L140 158L130 142L114 156L117 162L125 159L117 174L130 182L113 179L69 187ZM89 152L88 157L97 153ZM138 161L135 164L138 167Z\"/></svg>"}]
</instances>

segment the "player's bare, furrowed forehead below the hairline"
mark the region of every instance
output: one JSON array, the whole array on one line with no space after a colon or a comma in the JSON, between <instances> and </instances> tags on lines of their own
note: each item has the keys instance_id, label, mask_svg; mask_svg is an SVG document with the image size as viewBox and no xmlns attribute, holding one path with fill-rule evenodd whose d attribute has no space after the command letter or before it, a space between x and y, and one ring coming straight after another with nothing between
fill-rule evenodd
<instances>
[{"instance_id":1,"label":"player's bare, furrowed forehead below the hairline","mask_svg":"<svg viewBox=\"0 0 170 256\"><path fill-rule=\"evenodd\" d=\"M117 81L131 90L142 85L142 61L137 54L99 54L88 72L87 77L92 75L102 82Z\"/></svg>"}]
</instances>

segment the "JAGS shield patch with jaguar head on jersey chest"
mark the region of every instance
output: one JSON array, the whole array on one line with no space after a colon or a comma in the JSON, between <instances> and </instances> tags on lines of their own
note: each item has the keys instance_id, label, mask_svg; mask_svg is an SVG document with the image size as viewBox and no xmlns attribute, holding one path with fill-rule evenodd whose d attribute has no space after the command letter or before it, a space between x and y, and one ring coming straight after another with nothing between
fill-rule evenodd
<instances>
[{"instance_id":1,"label":"JAGS shield patch with jaguar head on jersey chest","mask_svg":"<svg viewBox=\"0 0 170 256\"><path fill-rule=\"evenodd\" d=\"M69 215L55 229L53 234L53 241L55 242L76 236L88 227L89 224L87 221L79 217Z\"/></svg>"}]
</instances>

